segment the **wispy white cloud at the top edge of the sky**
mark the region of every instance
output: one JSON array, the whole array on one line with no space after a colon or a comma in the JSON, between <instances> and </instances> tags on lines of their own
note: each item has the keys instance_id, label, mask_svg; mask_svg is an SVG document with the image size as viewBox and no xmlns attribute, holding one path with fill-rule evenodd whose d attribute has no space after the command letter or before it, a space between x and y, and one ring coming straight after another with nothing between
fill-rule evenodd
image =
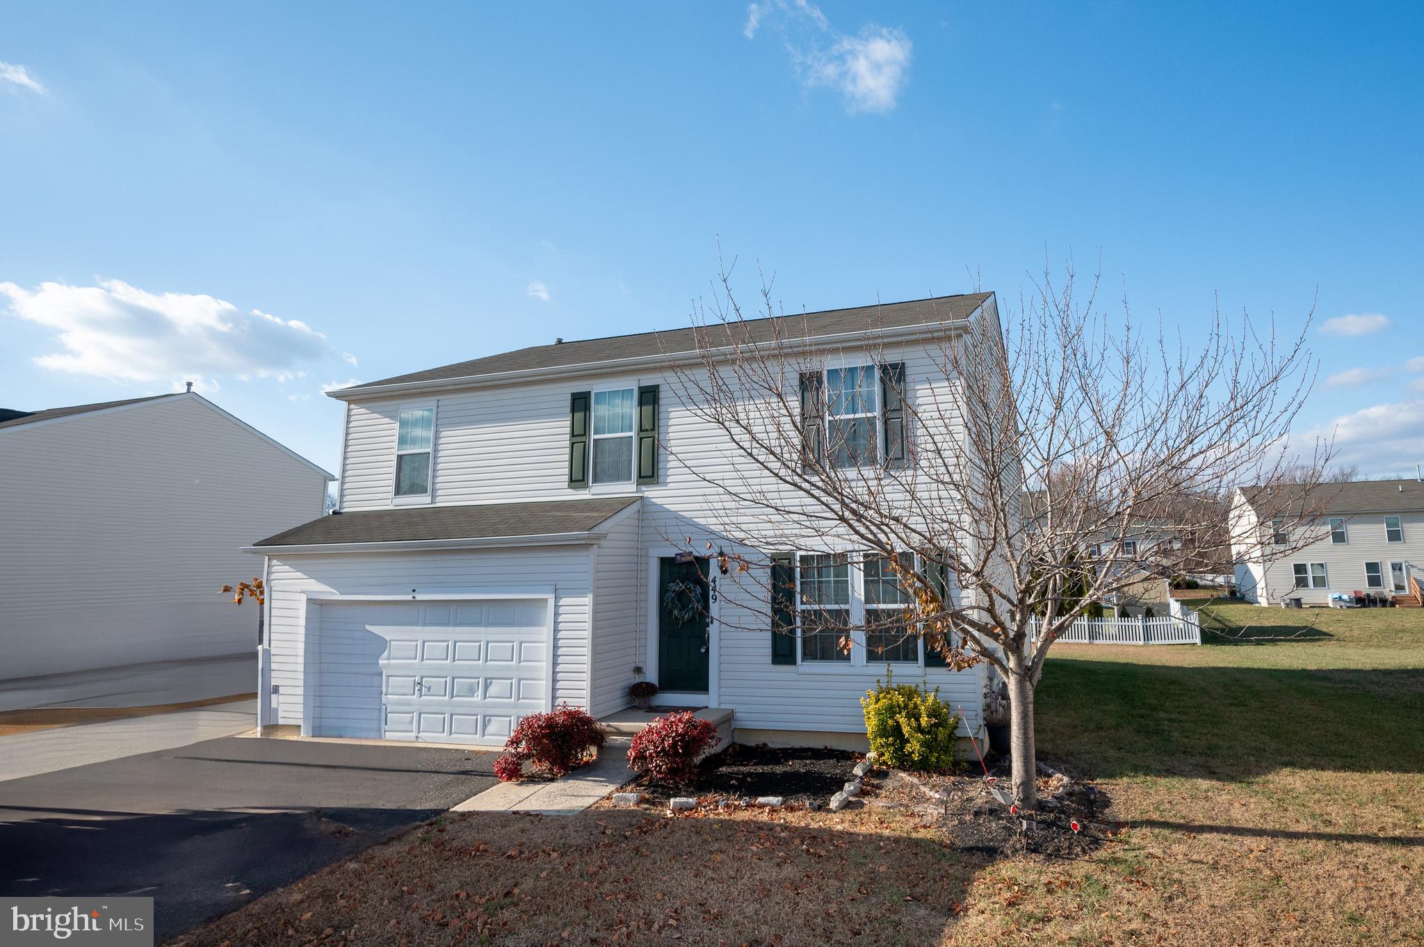
<instances>
[{"instance_id":1,"label":"wispy white cloud at the top edge of the sky","mask_svg":"<svg viewBox=\"0 0 1424 947\"><path fill-rule=\"evenodd\" d=\"M800 80L807 88L834 88L846 111L887 113L910 80L914 46L903 30L866 23L850 36L830 26L809 0L765 0L746 9L742 34L755 38L768 17L786 40Z\"/></svg>"}]
</instances>

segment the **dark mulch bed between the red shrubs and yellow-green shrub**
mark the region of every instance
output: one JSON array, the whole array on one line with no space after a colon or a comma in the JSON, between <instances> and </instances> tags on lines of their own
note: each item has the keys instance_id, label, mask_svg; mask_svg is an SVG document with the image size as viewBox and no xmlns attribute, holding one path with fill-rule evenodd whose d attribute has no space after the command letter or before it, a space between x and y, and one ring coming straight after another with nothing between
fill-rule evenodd
<instances>
[{"instance_id":1,"label":"dark mulch bed between the red shrubs and yellow-green shrub","mask_svg":"<svg viewBox=\"0 0 1424 947\"><path fill-rule=\"evenodd\" d=\"M702 760L691 786L672 786L644 778L631 789L644 802L666 803L674 796L699 800L780 796L785 805L824 805L850 779L863 753L827 748L772 748L765 743L732 743Z\"/></svg>"}]
</instances>

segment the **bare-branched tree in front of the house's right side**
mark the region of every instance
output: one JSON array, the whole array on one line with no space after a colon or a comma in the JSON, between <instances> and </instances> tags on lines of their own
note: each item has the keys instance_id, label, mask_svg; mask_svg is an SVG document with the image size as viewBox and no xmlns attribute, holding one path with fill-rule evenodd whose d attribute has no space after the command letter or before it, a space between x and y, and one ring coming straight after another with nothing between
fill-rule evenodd
<instances>
[{"instance_id":1,"label":"bare-branched tree in front of the house's right side","mask_svg":"<svg viewBox=\"0 0 1424 947\"><path fill-rule=\"evenodd\" d=\"M796 316L755 318L782 315L765 279L748 318L723 268L695 313L699 357L669 359L668 375L733 463L708 467L665 443L715 498L709 535L676 538L732 545L721 564L735 560L739 594L762 597L749 622L769 608L776 627L796 608L780 627L803 648L849 648L859 632L883 654L923 635L947 666L983 661L1002 676L1025 809L1037 805L1034 688L1054 639L1145 570L1180 568L1176 544L1135 541L1148 520L1220 530L1226 487L1293 461L1286 436L1314 379L1303 333L1280 343L1219 312L1188 339L1143 333L1125 300L1121 318L1095 310L1096 279L1079 299L1071 265L1061 285L1045 268L1035 291L1007 332L985 295L974 318L947 309L883 330L871 315L827 343ZM883 410L866 410L881 397ZM1329 450L1316 453L1297 480L1319 478ZM846 550L866 557L864 581L891 608L853 622L827 607Z\"/></svg>"}]
</instances>

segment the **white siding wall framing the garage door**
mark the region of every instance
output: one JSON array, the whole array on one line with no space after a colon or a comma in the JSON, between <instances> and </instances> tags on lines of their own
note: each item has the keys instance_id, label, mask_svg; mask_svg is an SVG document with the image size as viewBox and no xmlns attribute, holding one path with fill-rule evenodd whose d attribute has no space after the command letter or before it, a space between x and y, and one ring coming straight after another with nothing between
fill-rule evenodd
<instances>
[{"instance_id":1,"label":"white siding wall framing the garage door","mask_svg":"<svg viewBox=\"0 0 1424 947\"><path fill-rule=\"evenodd\" d=\"M275 723L302 723L308 598L339 595L410 595L439 601L440 594L554 591L553 702L588 706L587 545L443 553L283 554L271 560L271 665L276 695ZM320 652L320 648L318 648ZM369 664L370 655L350 655ZM379 656L379 655L377 655ZM339 656L322 656L320 675ZM367 726L369 669L350 669L353 728ZM337 678L326 676L326 681ZM323 685L326 686L326 685ZM335 686L335 685L333 685ZM377 694L379 698L379 694ZM365 701L362 703L360 701ZM376 706L379 708L379 699ZM330 711L333 712L333 711ZM337 725L335 719L326 723Z\"/></svg>"}]
</instances>

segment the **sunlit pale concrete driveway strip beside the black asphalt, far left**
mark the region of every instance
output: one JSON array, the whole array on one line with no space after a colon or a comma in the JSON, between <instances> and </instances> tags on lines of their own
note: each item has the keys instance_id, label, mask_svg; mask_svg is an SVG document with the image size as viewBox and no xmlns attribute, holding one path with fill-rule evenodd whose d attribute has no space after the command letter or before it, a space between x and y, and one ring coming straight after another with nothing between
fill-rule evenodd
<instances>
[{"instance_id":1,"label":"sunlit pale concrete driveway strip beside the black asphalt, far left","mask_svg":"<svg viewBox=\"0 0 1424 947\"><path fill-rule=\"evenodd\" d=\"M256 726L256 701L0 736L0 782L232 736Z\"/></svg>"}]
</instances>

